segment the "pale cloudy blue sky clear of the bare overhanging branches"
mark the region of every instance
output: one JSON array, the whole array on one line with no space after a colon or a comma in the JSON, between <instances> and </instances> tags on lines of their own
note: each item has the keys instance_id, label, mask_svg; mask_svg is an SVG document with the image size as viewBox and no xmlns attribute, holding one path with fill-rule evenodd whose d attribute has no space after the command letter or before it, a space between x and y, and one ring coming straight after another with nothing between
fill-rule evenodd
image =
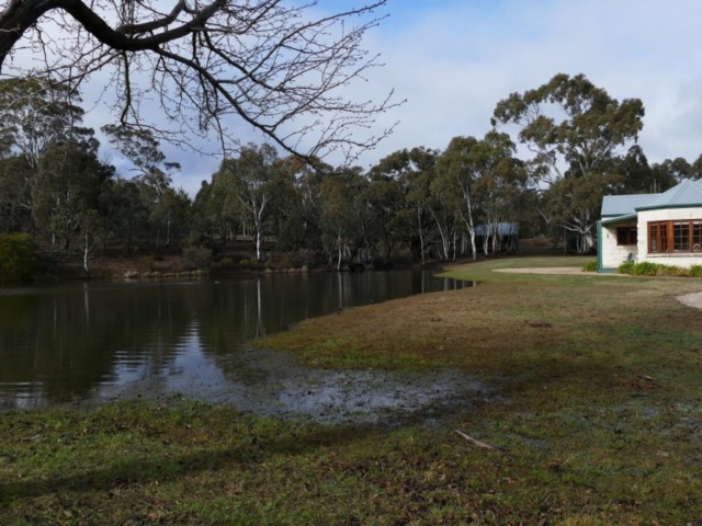
<instances>
[{"instance_id":1,"label":"pale cloudy blue sky clear of the bare overhanging branches","mask_svg":"<svg viewBox=\"0 0 702 526\"><path fill-rule=\"evenodd\" d=\"M317 9L363 3L320 0ZM584 73L619 101L641 99L646 115L638 142L649 163L692 162L702 153L699 0L388 0L377 14L387 18L366 34L364 47L385 66L371 71L362 94L382 100L394 89L396 100L407 102L377 117L378 132L398 124L359 158L365 169L404 148L443 150L456 136L480 138L500 100L556 73ZM350 88L349 96L358 93L358 85ZM105 124L91 118L99 112L86 123ZM241 142L263 141L240 129ZM505 130L517 140L514 129ZM163 150L182 164L173 183L191 196L220 162L168 145Z\"/></svg>"}]
</instances>

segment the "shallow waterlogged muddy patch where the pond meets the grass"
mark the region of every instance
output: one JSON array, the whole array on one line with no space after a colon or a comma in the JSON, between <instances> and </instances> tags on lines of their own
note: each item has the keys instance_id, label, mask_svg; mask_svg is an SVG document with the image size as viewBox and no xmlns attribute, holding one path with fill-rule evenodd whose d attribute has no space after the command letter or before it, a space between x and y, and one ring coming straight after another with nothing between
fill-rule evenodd
<instances>
[{"instance_id":1,"label":"shallow waterlogged muddy patch where the pond meets the grass","mask_svg":"<svg viewBox=\"0 0 702 526\"><path fill-rule=\"evenodd\" d=\"M203 362L181 376L172 373L107 386L89 403L167 401L182 396L259 416L376 424L408 418L437 420L453 409L464 411L497 398L492 388L464 371L313 369L292 355L265 348L244 347L218 357L216 364Z\"/></svg>"}]
</instances>

